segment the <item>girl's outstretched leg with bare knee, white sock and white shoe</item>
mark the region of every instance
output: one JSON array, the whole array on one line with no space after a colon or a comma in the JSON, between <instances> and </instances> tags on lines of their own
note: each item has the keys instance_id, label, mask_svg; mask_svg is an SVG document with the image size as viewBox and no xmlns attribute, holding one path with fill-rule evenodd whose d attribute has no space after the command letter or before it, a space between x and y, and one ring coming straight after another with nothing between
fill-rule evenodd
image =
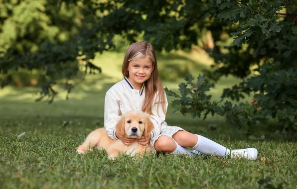
<instances>
[{"instance_id":1,"label":"girl's outstretched leg with bare knee, white sock and white shoe","mask_svg":"<svg viewBox=\"0 0 297 189\"><path fill-rule=\"evenodd\" d=\"M247 157L251 160L257 159L258 151L255 148L230 150L208 138L201 135L192 134L187 131L177 131L172 138L181 146L190 147L202 154L210 154L217 156L225 156L230 154L233 156Z\"/></svg>"}]
</instances>

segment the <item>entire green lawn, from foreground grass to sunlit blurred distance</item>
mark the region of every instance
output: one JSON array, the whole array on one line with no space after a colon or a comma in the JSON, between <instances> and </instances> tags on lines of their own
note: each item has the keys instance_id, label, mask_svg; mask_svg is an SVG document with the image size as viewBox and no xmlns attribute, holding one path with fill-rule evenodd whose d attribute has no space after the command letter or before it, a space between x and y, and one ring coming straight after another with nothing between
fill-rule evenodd
<instances>
[{"instance_id":1,"label":"entire green lawn, from foreground grass to sunlit blurred distance","mask_svg":"<svg viewBox=\"0 0 297 189\"><path fill-rule=\"evenodd\" d=\"M207 57L182 53L158 57L160 71L165 70L165 65L181 64L188 66L194 76L207 69L211 61ZM122 59L123 53L97 57L95 63L102 67L103 73L88 76L74 88L69 100L65 100L65 93L61 92L50 105L44 101L34 102L36 96L32 94L38 90L36 88L7 87L0 91L1 189L254 189L265 186L273 189L278 185L297 188L297 144L282 139L274 124L234 130L222 117L209 117L205 121L192 119L173 114L171 106L167 115L169 125L209 137L232 149L255 147L259 151L258 159L151 155L143 160L121 157L112 162L105 151L76 154L75 148L86 135L103 126L104 95L122 79ZM165 87L177 89L182 78L173 81L170 77L174 78L179 68L167 71L173 76L163 82ZM238 82L224 78L210 93L218 99L223 88ZM210 125L216 126L216 130L210 130ZM21 135L23 132L25 134Z\"/></svg>"}]
</instances>

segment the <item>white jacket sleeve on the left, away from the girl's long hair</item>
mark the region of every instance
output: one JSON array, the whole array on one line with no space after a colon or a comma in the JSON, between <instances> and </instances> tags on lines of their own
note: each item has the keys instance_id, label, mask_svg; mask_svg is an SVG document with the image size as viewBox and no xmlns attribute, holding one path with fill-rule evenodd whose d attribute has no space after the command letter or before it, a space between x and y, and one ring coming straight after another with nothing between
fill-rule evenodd
<instances>
[{"instance_id":1,"label":"white jacket sleeve on the left, away from the girl's long hair","mask_svg":"<svg viewBox=\"0 0 297 189\"><path fill-rule=\"evenodd\" d=\"M116 124L121 119L121 110L119 102L116 100L114 95L107 92L105 95L104 103L104 127L107 135L114 140L117 140L116 136Z\"/></svg>"}]
</instances>

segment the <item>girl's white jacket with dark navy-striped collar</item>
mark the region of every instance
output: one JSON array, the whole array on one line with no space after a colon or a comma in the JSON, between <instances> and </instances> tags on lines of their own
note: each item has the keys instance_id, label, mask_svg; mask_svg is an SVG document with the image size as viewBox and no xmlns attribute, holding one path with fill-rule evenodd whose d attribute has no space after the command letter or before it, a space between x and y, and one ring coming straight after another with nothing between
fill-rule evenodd
<instances>
[{"instance_id":1,"label":"girl's white jacket with dark navy-striped collar","mask_svg":"<svg viewBox=\"0 0 297 189\"><path fill-rule=\"evenodd\" d=\"M167 111L168 102L165 95L165 107ZM126 111L142 110L145 101L145 89L142 87L141 91L134 89L129 80L125 77L124 80L116 83L111 87L105 95L104 104L104 126L108 136L114 140L116 137L116 124L121 119L121 115ZM161 130L167 123L165 122L165 114L162 110L161 104L157 114L156 95L154 97L152 113L150 120L154 125L151 132L151 138L160 134Z\"/></svg>"}]
</instances>

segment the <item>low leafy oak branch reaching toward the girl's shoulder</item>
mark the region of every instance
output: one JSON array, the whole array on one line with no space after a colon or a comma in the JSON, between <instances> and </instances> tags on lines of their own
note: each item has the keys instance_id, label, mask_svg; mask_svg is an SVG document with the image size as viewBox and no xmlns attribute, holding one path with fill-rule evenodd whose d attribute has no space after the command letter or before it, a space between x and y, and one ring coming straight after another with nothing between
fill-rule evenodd
<instances>
[{"instance_id":1,"label":"low leafy oak branch reaching toward the girl's shoulder","mask_svg":"<svg viewBox=\"0 0 297 189\"><path fill-rule=\"evenodd\" d=\"M225 101L220 105L220 101L212 101L211 95L207 95L213 85L206 79L206 75L199 75L197 81L191 75L186 77L186 83L179 84L180 95L165 88L166 94L174 96L172 105L177 107L183 115L189 114L192 117L201 117L206 119L208 114L218 114L225 116L229 125L241 128L244 125L253 126L256 121L267 123L265 114L259 113L256 100L250 102L240 102L233 105L230 101ZM261 109L260 112L263 110Z\"/></svg>"}]
</instances>

